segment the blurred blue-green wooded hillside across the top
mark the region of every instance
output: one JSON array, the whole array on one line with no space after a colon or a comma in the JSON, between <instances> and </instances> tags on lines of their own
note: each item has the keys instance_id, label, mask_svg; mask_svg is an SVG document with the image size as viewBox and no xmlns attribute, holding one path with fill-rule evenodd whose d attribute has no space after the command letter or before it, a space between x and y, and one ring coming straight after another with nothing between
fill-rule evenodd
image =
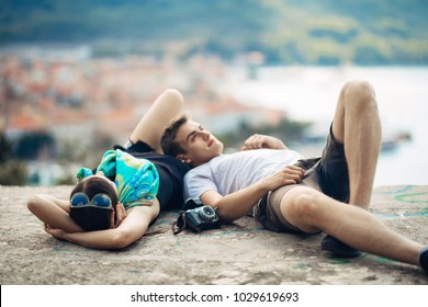
<instances>
[{"instance_id":1,"label":"blurred blue-green wooded hillside across the top","mask_svg":"<svg viewBox=\"0 0 428 307\"><path fill-rule=\"evenodd\" d=\"M188 45L183 58L258 50L267 64L426 65L427 15L425 0L3 0L0 44L91 42L95 55L121 56L161 55L172 41Z\"/></svg>"}]
</instances>

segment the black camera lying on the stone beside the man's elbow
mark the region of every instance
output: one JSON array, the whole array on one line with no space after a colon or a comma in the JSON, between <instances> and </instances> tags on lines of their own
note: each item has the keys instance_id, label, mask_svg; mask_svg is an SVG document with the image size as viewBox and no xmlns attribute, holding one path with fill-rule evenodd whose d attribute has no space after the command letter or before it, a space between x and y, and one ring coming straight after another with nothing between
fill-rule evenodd
<instances>
[{"instance_id":1,"label":"black camera lying on the stone beside the man's elbow","mask_svg":"<svg viewBox=\"0 0 428 307\"><path fill-rule=\"evenodd\" d=\"M206 229L218 228L221 224L221 219L214 208L211 206L200 206L180 212L180 216L172 227L176 235L183 229L200 232Z\"/></svg>"}]
</instances>

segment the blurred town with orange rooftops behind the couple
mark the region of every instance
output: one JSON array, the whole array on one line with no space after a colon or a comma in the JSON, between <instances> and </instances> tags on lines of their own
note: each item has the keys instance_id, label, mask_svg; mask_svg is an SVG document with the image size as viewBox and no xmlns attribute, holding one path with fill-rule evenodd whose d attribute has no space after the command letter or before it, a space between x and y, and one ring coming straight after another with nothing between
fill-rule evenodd
<instances>
[{"instance_id":1,"label":"blurred town with orange rooftops behind the couple","mask_svg":"<svg viewBox=\"0 0 428 307\"><path fill-rule=\"evenodd\" d=\"M255 78L262 57L239 61ZM9 144L9 158L27 161L24 183L58 184L72 182L78 166L94 167L104 150L123 144L167 88L179 89L192 116L213 133L278 125L283 111L251 107L222 92L225 65L210 55L187 62L173 55L93 58L86 46L3 49L2 143Z\"/></svg>"}]
</instances>

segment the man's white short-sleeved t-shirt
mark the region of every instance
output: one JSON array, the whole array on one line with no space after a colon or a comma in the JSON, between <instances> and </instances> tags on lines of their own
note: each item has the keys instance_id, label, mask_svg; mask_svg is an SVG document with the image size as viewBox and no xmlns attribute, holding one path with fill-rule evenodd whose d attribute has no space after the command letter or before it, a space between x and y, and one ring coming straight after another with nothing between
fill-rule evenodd
<instances>
[{"instance_id":1,"label":"man's white short-sleeved t-shirt","mask_svg":"<svg viewBox=\"0 0 428 307\"><path fill-rule=\"evenodd\" d=\"M255 149L222 155L190 170L184 177L184 200L201 204L207 191L228 195L249 186L304 157L288 149Z\"/></svg>"}]
</instances>

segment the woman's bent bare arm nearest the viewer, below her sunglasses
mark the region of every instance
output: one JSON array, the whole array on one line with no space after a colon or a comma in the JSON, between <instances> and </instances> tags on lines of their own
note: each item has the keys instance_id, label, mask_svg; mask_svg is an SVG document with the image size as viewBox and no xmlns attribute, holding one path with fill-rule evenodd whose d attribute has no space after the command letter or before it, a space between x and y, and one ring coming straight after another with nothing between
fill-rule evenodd
<instances>
[{"instance_id":1,"label":"woman's bent bare arm nearest the viewer, below her sunglasses","mask_svg":"<svg viewBox=\"0 0 428 307\"><path fill-rule=\"evenodd\" d=\"M94 249L122 249L144 236L149 224L159 215L159 202L151 206L136 206L127 211L126 218L117 228L87 231L66 232L61 229L46 227L46 232L53 237Z\"/></svg>"}]
</instances>

